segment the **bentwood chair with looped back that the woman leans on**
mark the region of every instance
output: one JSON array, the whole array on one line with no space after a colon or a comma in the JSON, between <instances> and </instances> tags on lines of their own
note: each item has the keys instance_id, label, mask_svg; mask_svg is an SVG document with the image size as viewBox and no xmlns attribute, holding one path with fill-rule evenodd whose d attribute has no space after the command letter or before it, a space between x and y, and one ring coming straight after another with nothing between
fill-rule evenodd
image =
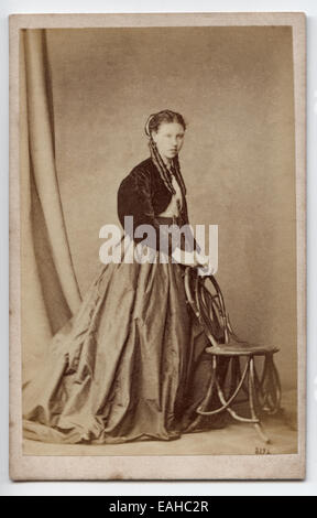
<instances>
[{"instance_id":1,"label":"bentwood chair with looped back that the woman leans on","mask_svg":"<svg viewBox=\"0 0 317 518\"><path fill-rule=\"evenodd\" d=\"M211 359L210 382L196 412L215 416L227 411L237 421L252 423L261 439L270 443L261 424L261 416L263 412L274 414L281 409L281 382L273 359L278 348L251 344L237 337L214 276L200 277L197 270L188 267L184 277L187 301L210 343L206 348ZM225 358L227 369L223 377ZM215 390L220 404L208 410ZM238 413L237 407L241 402L248 402L248 417L241 416L240 411Z\"/></svg>"}]
</instances>

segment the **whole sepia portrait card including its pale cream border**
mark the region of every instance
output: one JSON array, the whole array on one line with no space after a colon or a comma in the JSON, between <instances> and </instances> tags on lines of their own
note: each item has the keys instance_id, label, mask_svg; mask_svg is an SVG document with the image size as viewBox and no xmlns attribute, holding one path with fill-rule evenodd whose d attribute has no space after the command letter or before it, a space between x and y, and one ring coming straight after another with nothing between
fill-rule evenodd
<instances>
[{"instance_id":1,"label":"whole sepia portrait card including its pale cream border","mask_svg":"<svg viewBox=\"0 0 317 518\"><path fill-rule=\"evenodd\" d=\"M11 477L303 478L305 15L10 46Z\"/></svg>"}]
</instances>

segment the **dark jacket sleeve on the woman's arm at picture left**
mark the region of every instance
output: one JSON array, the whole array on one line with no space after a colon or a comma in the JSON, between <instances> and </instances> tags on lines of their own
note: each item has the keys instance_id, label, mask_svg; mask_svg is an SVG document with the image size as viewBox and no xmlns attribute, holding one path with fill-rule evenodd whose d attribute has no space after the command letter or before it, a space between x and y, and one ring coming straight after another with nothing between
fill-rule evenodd
<instances>
[{"instance_id":1,"label":"dark jacket sleeve on the woman's arm at picture left","mask_svg":"<svg viewBox=\"0 0 317 518\"><path fill-rule=\"evenodd\" d=\"M175 244L172 240L171 233L165 233L164 227L157 222L153 204L152 204L152 186L151 186L151 174L146 170L132 171L120 184L118 191L118 216L119 220L128 231L128 235L134 242L139 244L146 238L146 244L150 248L155 250L160 249L160 238L164 239L164 245L161 249L164 249L168 256L175 249ZM124 225L124 216L132 216L132 225ZM153 229L151 235L146 234L146 229L140 228L138 236L135 230L140 225L150 225ZM144 234L143 234L144 231Z\"/></svg>"}]
</instances>

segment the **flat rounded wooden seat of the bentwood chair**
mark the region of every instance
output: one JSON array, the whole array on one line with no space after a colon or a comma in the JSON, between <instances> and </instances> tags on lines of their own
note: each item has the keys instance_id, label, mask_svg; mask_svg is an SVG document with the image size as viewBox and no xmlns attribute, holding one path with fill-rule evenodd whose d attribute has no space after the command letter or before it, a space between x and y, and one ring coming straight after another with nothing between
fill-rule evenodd
<instances>
[{"instance_id":1,"label":"flat rounded wooden seat of the bentwood chair","mask_svg":"<svg viewBox=\"0 0 317 518\"><path fill-rule=\"evenodd\" d=\"M274 345L251 344L250 342L238 341L230 336L228 344L210 346L205 350L216 356L264 356L275 354L280 348Z\"/></svg>"}]
</instances>

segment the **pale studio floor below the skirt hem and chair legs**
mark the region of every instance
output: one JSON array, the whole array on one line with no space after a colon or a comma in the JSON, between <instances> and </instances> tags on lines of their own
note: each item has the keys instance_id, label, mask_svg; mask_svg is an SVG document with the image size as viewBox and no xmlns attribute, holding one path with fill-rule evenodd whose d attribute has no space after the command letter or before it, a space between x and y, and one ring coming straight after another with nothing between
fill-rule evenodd
<instances>
[{"instance_id":1,"label":"pale studio floor below the skirt hem and chair legs","mask_svg":"<svg viewBox=\"0 0 317 518\"><path fill-rule=\"evenodd\" d=\"M36 441L23 442L24 455L253 455L291 454L297 452L296 391L283 395L283 411L264 417L263 428L271 439L265 445L254 427L229 420L226 428L199 433L187 433L171 442L144 441L105 445L57 445ZM259 450L260 449L260 450ZM263 451L263 449L265 449Z\"/></svg>"}]
</instances>

